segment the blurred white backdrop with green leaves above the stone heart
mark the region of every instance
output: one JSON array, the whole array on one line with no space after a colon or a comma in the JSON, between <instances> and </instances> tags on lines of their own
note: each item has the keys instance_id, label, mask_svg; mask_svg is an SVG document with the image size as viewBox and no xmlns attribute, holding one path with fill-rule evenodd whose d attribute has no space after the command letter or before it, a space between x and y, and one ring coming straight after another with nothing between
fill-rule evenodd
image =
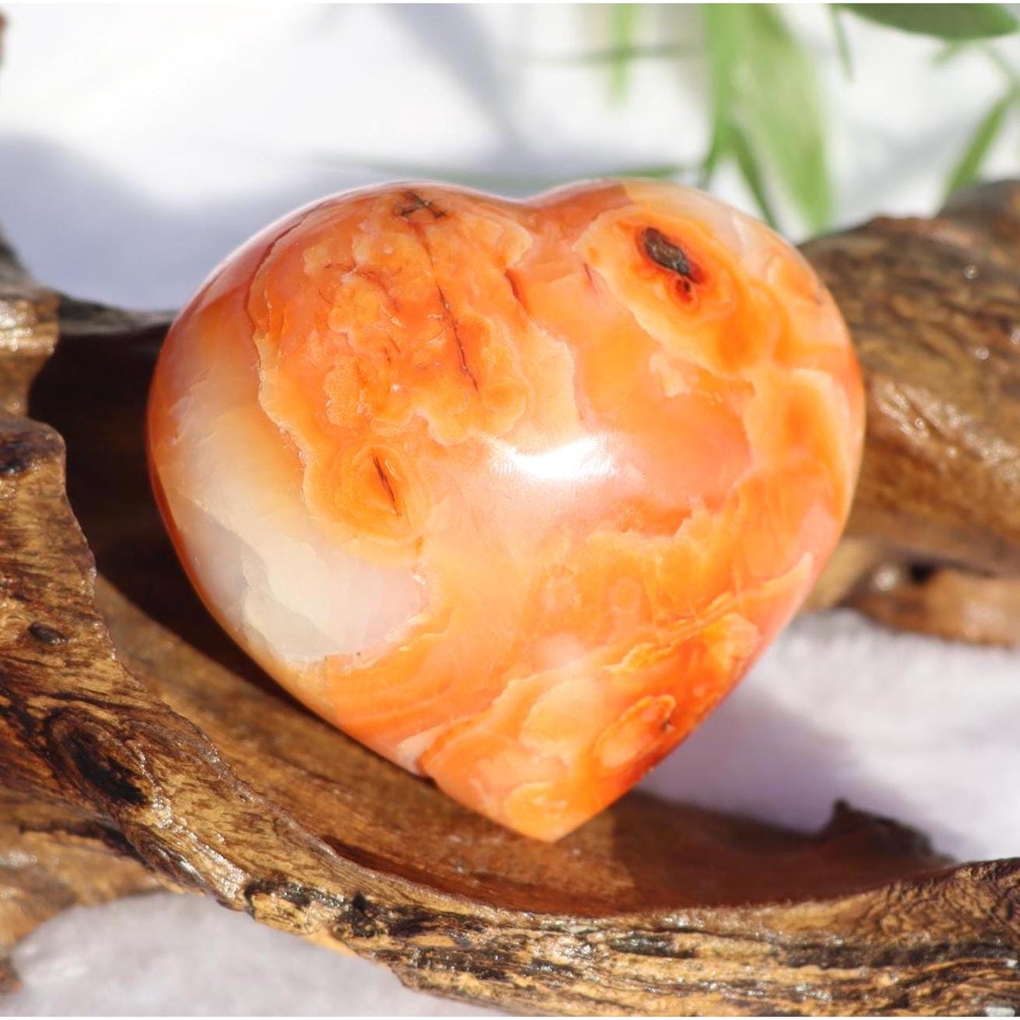
<instances>
[{"instance_id":1,"label":"blurred white backdrop with green leaves above the stone heart","mask_svg":"<svg viewBox=\"0 0 1020 1020\"><path fill-rule=\"evenodd\" d=\"M961 180L1017 168L1005 7L878 8L927 34L853 7L14 4L0 214L47 283L170 306L267 220L394 177L671 174L800 239L932 212L968 151Z\"/></svg>"}]
</instances>

